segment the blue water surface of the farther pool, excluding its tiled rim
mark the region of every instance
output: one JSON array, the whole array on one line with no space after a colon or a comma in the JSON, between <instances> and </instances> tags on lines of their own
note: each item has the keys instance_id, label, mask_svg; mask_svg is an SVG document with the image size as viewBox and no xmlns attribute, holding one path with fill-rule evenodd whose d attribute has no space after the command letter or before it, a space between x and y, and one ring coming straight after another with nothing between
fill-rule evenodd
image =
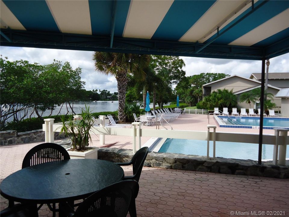
<instances>
[{"instance_id":1,"label":"blue water surface of the farther pool, excluding its tiled rim","mask_svg":"<svg viewBox=\"0 0 289 217\"><path fill-rule=\"evenodd\" d=\"M224 117L218 116L227 125L241 125L241 126L259 126L259 117ZM263 126L265 128L283 127L289 128L289 118L264 118Z\"/></svg>"}]
</instances>

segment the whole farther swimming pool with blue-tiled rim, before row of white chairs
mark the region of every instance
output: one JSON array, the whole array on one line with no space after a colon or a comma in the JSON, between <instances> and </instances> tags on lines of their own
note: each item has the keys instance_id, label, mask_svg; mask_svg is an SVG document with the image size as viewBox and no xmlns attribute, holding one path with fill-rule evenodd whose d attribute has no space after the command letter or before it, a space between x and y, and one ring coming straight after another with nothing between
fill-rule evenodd
<instances>
[{"instance_id":1,"label":"whole farther swimming pool with blue-tiled rim, before row of white chairs","mask_svg":"<svg viewBox=\"0 0 289 217\"><path fill-rule=\"evenodd\" d=\"M259 129L259 117L236 117L236 116L214 116L220 127L253 128ZM289 118L264 118L264 129L285 128L289 129Z\"/></svg>"}]
</instances>

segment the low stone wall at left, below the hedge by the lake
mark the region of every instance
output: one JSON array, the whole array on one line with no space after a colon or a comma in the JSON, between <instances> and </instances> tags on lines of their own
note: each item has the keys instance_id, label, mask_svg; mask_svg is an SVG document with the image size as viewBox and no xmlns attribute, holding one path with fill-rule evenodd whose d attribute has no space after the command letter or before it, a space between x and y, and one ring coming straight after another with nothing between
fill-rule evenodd
<instances>
[{"instance_id":1,"label":"low stone wall at left, below the hedge by the lake","mask_svg":"<svg viewBox=\"0 0 289 217\"><path fill-rule=\"evenodd\" d=\"M59 135L58 132L54 133L54 139L65 138L65 134ZM0 145L11 145L18 143L30 143L45 141L45 132L40 130L26 131L17 133L14 130L0 131Z\"/></svg>"}]
</instances>

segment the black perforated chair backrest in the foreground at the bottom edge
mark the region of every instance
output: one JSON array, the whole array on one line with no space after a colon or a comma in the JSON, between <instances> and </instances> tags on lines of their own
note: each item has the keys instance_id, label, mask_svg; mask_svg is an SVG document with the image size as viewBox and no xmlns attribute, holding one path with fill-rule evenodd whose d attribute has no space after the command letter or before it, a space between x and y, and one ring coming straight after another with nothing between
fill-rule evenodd
<instances>
[{"instance_id":1,"label":"black perforated chair backrest in the foreground at the bottom edge","mask_svg":"<svg viewBox=\"0 0 289 217\"><path fill-rule=\"evenodd\" d=\"M76 209L74 216L125 217L133 195L138 189L138 182L134 180L112 184L85 199Z\"/></svg>"}]
</instances>

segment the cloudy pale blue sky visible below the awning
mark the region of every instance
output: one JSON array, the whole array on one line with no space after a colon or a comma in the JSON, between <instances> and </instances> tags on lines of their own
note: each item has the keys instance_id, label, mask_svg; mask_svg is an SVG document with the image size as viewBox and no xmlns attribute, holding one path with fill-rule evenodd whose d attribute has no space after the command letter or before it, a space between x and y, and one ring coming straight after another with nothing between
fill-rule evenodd
<instances>
[{"instance_id":1,"label":"cloudy pale blue sky visible below the awning","mask_svg":"<svg viewBox=\"0 0 289 217\"><path fill-rule=\"evenodd\" d=\"M27 60L30 63L50 64L54 59L68 61L72 68L82 68L81 80L85 81L85 89L109 90L117 92L117 81L112 76L100 74L94 69L91 51L72 51L58 49L40 49L24 47L0 47L2 57L9 61ZM261 61L231 60L197 57L180 57L185 61L186 76L200 73L225 73L249 78L252 73L261 73ZM289 72L289 54L270 59L270 72Z\"/></svg>"}]
</instances>

